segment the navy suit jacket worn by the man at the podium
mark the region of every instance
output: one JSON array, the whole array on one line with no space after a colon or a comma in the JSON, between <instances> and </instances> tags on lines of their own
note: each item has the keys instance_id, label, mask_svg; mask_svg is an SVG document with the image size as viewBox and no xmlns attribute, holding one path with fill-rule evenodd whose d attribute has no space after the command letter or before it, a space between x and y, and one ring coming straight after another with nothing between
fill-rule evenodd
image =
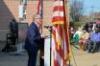
<instances>
[{"instance_id":1,"label":"navy suit jacket worn by the man at the podium","mask_svg":"<svg viewBox=\"0 0 100 66\"><path fill-rule=\"evenodd\" d=\"M27 31L27 36L25 40L25 49L39 49L43 40L40 36L38 27L34 22L30 25Z\"/></svg>"}]
</instances>

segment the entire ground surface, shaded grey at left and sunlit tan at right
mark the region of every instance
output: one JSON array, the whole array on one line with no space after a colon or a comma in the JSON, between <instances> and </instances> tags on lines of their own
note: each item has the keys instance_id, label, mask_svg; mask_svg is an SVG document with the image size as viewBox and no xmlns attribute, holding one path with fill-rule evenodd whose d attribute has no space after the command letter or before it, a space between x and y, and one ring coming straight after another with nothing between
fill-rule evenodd
<instances>
[{"instance_id":1,"label":"entire ground surface, shaded grey at left and sunlit tan at right","mask_svg":"<svg viewBox=\"0 0 100 66\"><path fill-rule=\"evenodd\" d=\"M0 42L0 48L4 47L5 43ZM88 53L87 51L72 49L70 58L71 66L100 66L100 52ZM0 66L27 66L28 56L26 52L21 52L20 55L14 53L4 53L0 51ZM37 61L37 66L38 66Z\"/></svg>"}]
</instances>

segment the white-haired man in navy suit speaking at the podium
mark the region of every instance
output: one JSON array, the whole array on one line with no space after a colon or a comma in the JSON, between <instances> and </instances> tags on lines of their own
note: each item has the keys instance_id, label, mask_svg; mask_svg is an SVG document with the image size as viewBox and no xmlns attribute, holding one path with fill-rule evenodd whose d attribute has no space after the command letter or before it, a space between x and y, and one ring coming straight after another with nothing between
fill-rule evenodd
<instances>
[{"instance_id":1,"label":"white-haired man in navy suit speaking at the podium","mask_svg":"<svg viewBox=\"0 0 100 66\"><path fill-rule=\"evenodd\" d=\"M28 28L25 40L25 49L29 56L28 66L36 66L37 52L43 42L40 35L41 27L42 27L41 17L40 15L36 15L34 17L34 21Z\"/></svg>"}]
</instances>

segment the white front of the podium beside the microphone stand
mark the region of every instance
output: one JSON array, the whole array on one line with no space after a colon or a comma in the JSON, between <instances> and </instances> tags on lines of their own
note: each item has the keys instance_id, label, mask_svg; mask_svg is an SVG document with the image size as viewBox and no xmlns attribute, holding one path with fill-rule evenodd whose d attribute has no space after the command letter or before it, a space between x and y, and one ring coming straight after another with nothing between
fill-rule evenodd
<instances>
[{"instance_id":1,"label":"white front of the podium beside the microphone stand","mask_svg":"<svg viewBox=\"0 0 100 66\"><path fill-rule=\"evenodd\" d=\"M50 37L44 40L44 66L50 66Z\"/></svg>"}]
</instances>

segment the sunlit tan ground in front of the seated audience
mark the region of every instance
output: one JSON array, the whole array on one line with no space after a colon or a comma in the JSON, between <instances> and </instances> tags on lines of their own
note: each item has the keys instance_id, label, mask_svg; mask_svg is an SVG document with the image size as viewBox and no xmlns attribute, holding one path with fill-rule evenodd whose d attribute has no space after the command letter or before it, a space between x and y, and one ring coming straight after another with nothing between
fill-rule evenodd
<instances>
[{"instance_id":1,"label":"sunlit tan ground in front of the seated audience","mask_svg":"<svg viewBox=\"0 0 100 66\"><path fill-rule=\"evenodd\" d=\"M72 49L70 64L72 66L100 66L100 52L88 53L87 51Z\"/></svg>"}]
</instances>

